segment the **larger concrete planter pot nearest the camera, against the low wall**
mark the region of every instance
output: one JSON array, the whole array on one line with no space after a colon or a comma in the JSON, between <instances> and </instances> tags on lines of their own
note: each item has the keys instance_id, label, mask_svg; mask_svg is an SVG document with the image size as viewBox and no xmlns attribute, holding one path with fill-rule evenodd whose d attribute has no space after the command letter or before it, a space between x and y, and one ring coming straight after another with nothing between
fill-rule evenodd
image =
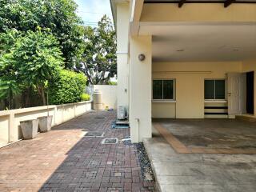
<instances>
[{"instance_id":1,"label":"larger concrete planter pot nearest the camera, against the low wall","mask_svg":"<svg viewBox=\"0 0 256 192\"><path fill-rule=\"evenodd\" d=\"M20 122L24 139L35 138L38 134L38 119Z\"/></svg>"}]
</instances>

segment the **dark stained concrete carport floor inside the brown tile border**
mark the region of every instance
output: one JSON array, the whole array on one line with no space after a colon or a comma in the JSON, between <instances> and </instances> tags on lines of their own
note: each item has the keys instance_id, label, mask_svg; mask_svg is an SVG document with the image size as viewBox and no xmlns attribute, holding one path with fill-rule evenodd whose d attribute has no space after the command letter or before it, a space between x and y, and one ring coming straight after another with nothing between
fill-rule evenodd
<instances>
[{"instance_id":1,"label":"dark stained concrete carport floor inside the brown tile border","mask_svg":"<svg viewBox=\"0 0 256 192\"><path fill-rule=\"evenodd\" d=\"M256 148L256 124L237 119L174 119L161 122L185 146Z\"/></svg>"}]
</instances>

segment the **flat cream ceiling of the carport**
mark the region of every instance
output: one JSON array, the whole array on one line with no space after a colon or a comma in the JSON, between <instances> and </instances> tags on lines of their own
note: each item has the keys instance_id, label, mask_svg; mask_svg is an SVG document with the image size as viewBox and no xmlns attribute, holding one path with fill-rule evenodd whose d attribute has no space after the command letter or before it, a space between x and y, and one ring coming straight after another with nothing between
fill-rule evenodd
<instances>
[{"instance_id":1,"label":"flat cream ceiling of the carport","mask_svg":"<svg viewBox=\"0 0 256 192\"><path fill-rule=\"evenodd\" d=\"M153 61L243 61L256 58L256 24L140 26L153 35Z\"/></svg>"}]
</instances>

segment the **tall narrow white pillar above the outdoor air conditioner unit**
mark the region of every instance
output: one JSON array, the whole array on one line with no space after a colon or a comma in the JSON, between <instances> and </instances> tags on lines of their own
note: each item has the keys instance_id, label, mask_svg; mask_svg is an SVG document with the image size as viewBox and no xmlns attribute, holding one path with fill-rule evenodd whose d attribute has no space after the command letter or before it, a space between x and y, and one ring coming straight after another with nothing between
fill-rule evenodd
<instances>
[{"instance_id":1,"label":"tall narrow white pillar above the outdoor air conditioner unit","mask_svg":"<svg viewBox=\"0 0 256 192\"><path fill-rule=\"evenodd\" d=\"M118 106L128 108L128 29L129 3L119 3L117 6L117 62L118 62Z\"/></svg>"}]
</instances>

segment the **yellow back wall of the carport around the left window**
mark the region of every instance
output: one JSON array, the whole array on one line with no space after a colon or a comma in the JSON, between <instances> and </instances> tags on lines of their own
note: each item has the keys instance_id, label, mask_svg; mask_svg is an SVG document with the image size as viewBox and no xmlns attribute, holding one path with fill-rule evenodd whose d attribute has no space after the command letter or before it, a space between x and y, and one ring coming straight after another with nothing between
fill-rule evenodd
<instances>
[{"instance_id":1,"label":"yellow back wall of the carport around the left window","mask_svg":"<svg viewBox=\"0 0 256 192\"><path fill-rule=\"evenodd\" d=\"M242 72L242 62L154 62L153 79L175 79L176 103L153 101L152 117L204 118L204 79L230 72Z\"/></svg>"}]
</instances>

